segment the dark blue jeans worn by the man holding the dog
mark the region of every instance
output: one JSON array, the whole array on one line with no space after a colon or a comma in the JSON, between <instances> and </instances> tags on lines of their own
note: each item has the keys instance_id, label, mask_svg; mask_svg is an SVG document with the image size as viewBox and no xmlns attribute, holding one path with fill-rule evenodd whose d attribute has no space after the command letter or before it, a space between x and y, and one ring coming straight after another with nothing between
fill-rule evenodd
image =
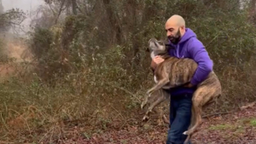
<instances>
[{"instance_id":1,"label":"dark blue jeans worn by the man holding the dog","mask_svg":"<svg viewBox=\"0 0 256 144\"><path fill-rule=\"evenodd\" d=\"M189 129L192 107L192 95L171 96L170 129L166 144L183 144L187 135L183 132ZM191 144L191 142L189 141Z\"/></svg>"}]
</instances>

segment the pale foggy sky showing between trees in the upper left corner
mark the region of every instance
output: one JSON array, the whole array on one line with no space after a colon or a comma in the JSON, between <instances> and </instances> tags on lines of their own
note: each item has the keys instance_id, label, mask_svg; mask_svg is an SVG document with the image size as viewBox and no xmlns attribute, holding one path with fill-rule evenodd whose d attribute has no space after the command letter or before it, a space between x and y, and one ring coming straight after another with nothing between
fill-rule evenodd
<instances>
[{"instance_id":1,"label":"pale foggy sky showing between trees in the upper left corner","mask_svg":"<svg viewBox=\"0 0 256 144\"><path fill-rule=\"evenodd\" d=\"M24 32L19 32L19 34L25 34L25 32L29 30L29 24L32 17L31 12L38 9L38 6L44 4L44 0L2 0L2 3L4 11L9 9L22 9L26 12L26 20L21 24L24 26Z\"/></svg>"}]
</instances>

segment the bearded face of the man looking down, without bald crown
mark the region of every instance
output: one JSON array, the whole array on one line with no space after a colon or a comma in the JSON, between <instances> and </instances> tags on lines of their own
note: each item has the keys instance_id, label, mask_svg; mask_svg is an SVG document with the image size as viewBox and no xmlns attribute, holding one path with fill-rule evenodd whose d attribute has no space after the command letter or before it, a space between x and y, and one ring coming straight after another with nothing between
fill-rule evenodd
<instances>
[{"instance_id":1,"label":"bearded face of the man looking down, without bald crown","mask_svg":"<svg viewBox=\"0 0 256 144\"><path fill-rule=\"evenodd\" d=\"M181 38L181 32L179 27L177 27L176 29L174 27L167 28L166 36L173 44L177 44Z\"/></svg>"}]
</instances>

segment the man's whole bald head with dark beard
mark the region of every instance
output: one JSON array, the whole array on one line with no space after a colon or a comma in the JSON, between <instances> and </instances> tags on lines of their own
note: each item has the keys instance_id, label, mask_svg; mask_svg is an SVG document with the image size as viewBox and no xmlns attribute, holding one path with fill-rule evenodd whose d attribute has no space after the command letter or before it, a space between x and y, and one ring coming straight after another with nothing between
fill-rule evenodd
<instances>
[{"instance_id":1,"label":"man's whole bald head with dark beard","mask_svg":"<svg viewBox=\"0 0 256 144\"><path fill-rule=\"evenodd\" d=\"M166 20L166 36L172 43L178 43L185 31L185 20L182 16L174 14Z\"/></svg>"}]
</instances>

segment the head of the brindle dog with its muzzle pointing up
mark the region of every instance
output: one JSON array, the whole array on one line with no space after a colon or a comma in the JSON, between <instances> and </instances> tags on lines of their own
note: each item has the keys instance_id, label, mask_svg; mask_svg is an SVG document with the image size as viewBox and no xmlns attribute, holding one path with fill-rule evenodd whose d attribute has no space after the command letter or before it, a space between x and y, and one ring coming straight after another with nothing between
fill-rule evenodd
<instances>
[{"instance_id":1,"label":"head of the brindle dog with its muzzle pointing up","mask_svg":"<svg viewBox=\"0 0 256 144\"><path fill-rule=\"evenodd\" d=\"M170 48L169 46L170 44L163 41L158 41L155 38L151 38L148 41L147 51L150 53L150 56L153 59L155 55L167 55Z\"/></svg>"}]
</instances>

